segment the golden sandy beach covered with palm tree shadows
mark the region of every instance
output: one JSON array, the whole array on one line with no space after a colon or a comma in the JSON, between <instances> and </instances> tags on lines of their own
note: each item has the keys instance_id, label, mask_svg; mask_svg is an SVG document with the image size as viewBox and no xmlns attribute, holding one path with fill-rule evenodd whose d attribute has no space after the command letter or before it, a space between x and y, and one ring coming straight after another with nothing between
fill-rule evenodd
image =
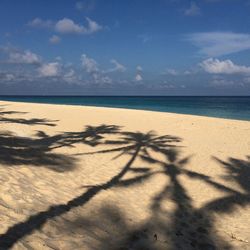
<instances>
[{"instance_id":1,"label":"golden sandy beach covered with palm tree shadows","mask_svg":"<svg viewBox=\"0 0 250 250\"><path fill-rule=\"evenodd\" d=\"M250 249L250 122L0 101L0 249Z\"/></svg>"}]
</instances>

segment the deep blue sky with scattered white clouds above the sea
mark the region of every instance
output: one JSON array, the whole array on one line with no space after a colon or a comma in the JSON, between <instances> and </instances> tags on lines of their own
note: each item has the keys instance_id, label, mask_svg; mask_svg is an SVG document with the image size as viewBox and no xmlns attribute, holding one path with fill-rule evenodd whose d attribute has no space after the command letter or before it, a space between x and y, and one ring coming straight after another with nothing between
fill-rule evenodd
<instances>
[{"instance_id":1,"label":"deep blue sky with scattered white clouds above the sea","mask_svg":"<svg viewBox=\"0 0 250 250\"><path fill-rule=\"evenodd\" d=\"M250 95L250 0L1 0L0 95Z\"/></svg>"}]
</instances>

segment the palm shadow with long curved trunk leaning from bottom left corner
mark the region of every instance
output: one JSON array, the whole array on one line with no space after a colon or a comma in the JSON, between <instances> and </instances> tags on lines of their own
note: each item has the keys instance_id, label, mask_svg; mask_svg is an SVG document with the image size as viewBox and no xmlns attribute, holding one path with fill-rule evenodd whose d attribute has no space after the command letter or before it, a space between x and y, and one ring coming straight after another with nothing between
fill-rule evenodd
<instances>
[{"instance_id":1,"label":"palm shadow with long curved trunk leaning from bottom left corner","mask_svg":"<svg viewBox=\"0 0 250 250\"><path fill-rule=\"evenodd\" d=\"M117 132L118 131L116 128L115 133ZM12 247L18 240L22 239L26 235L31 234L33 230L40 229L48 220L61 216L67 213L68 211L72 210L73 208L83 206L88 201L90 201L95 195L97 195L99 192L103 190L110 189L114 186L118 186L119 184L126 187L131 185L132 183L134 184L135 182L138 181L137 179L131 179L130 183L124 184L122 182L122 178L130 171L130 168L132 167L136 158L139 156L140 152L148 154L147 152L148 149L153 151L160 151L163 150L163 148L170 148L171 146L173 146L171 143L180 141L180 138L177 137L171 137L171 136L158 137L153 132L145 134L140 132L121 132L120 134L121 138L119 140L104 141L102 144L105 144L107 146L123 145L122 147L116 147L110 150L97 151L91 153L94 154L94 153L120 152L117 157L120 157L121 155L124 154L131 155L130 160L125 164L125 166L123 166L123 168L115 176L113 176L109 181L105 183L89 187L86 192L70 200L66 204L51 206L47 211L40 212L36 215L29 217L26 221L12 226L7 230L5 234L0 236L0 247L5 247L5 248ZM91 132L91 135L93 135L93 131ZM91 144L92 142L94 142L94 144L96 145L96 139L100 139L99 135L96 135L94 133L94 136L92 138L94 139L90 140ZM78 142L78 140L79 140L78 135L76 137L74 137L73 135L73 141L72 137L68 138L66 136L66 140L65 138L63 138L61 145L65 145L65 143L66 145L70 145L72 143L75 143L76 141ZM146 177L141 176L139 178L139 181L141 182L150 176L151 176L150 174L147 174Z\"/></svg>"}]
</instances>

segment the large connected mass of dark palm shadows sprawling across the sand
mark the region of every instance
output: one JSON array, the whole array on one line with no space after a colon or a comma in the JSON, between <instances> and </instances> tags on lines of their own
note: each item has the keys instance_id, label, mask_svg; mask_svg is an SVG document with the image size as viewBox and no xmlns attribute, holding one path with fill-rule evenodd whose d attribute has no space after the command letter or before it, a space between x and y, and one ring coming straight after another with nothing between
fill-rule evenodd
<instances>
[{"instance_id":1,"label":"large connected mass of dark palm shadows sprawling across the sand","mask_svg":"<svg viewBox=\"0 0 250 250\"><path fill-rule=\"evenodd\" d=\"M115 140L107 138L111 135ZM229 242L224 242L214 228L214 215L230 213L234 206L246 206L250 202L249 169L250 161L230 158L227 162L214 158L228 172L225 178L237 182L243 192L236 191L215 182L209 176L189 171L185 166L191 157L180 158L178 146L181 139L175 136L158 136L148 133L122 131L115 125L87 126L82 132L61 133L48 136L39 131L34 138L16 137L10 132L0 134L0 163L18 166L20 164L49 167L56 171L73 169L75 156L55 154L52 151L60 147L73 147L84 143L91 147L105 146L104 150L84 152L77 156L117 153L114 159L123 155L130 158L122 168L105 183L85 186L87 191L65 204L58 204L30 216L25 221L11 226L0 235L0 249L9 249L23 237L39 230L42 226L70 210L84 206L93 197L114 187L129 188L141 184L154 175L165 176L166 186L156 194L150 203L151 215L141 225L128 223L126 216L114 205L104 206L97 219L77 218L69 222L68 230L75 230L89 235L98 228L108 231L98 237L93 249L231 249ZM106 149L108 147L108 149ZM163 160L156 159L155 154ZM147 162L149 168L134 166L139 158ZM156 171L154 166L160 166ZM126 178L128 173L137 173L135 177ZM193 200L181 182L180 176L198 179L208 186L222 191L225 195L214 199L200 208L193 205ZM163 202L170 200L175 204L172 212L162 208ZM106 223L103 223L106 221ZM105 225L105 226L104 226ZM110 231L112 230L112 232ZM122 237L120 236L122 235Z\"/></svg>"}]
</instances>

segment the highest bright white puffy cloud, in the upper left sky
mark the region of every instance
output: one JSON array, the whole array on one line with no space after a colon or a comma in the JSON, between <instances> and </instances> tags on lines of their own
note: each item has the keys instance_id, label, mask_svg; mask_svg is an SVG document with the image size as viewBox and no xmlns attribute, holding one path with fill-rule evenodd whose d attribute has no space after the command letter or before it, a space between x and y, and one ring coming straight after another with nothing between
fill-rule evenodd
<instances>
[{"instance_id":1,"label":"highest bright white puffy cloud, in the upper left sky","mask_svg":"<svg viewBox=\"0 0 250 250\"><path fill-rule=\"evenodd\" d=\"M55 24L55 30L62 34L92 34L103 28L97 22L91 20L88 17L86 20L87 27L84 27L83 25L77 24L69 18L63 18Z\"/></svg>"}]
</instances>

